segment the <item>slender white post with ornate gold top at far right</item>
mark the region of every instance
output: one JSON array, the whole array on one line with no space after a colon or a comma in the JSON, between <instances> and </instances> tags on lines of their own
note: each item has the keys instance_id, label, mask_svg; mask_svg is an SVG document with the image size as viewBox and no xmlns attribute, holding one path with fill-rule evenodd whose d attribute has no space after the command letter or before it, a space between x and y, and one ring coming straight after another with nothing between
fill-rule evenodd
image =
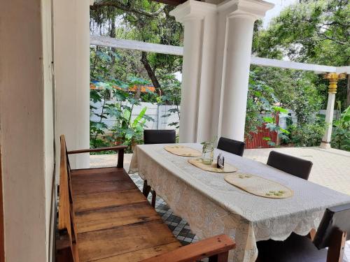
<instances>
[{"instance_id":1,"label":"slender white post with ornate gold top at far right","mask_svg":"<svg viewBox=\"0 0 350 262\"><path fill-rule=\"evenodd\" d=\"M325 75L323 75L323 78L329 80L329 86L327 111L325 113L325 123L327 124L327 129L325 129L325 134L322 138L322 143L320 147L323 149L329 149L330 139L332 138L332 123L334 115L335 94L337 93L337 82L340 79L346 78L346 74L326 73Z\"/></svg>"}]
</instances>

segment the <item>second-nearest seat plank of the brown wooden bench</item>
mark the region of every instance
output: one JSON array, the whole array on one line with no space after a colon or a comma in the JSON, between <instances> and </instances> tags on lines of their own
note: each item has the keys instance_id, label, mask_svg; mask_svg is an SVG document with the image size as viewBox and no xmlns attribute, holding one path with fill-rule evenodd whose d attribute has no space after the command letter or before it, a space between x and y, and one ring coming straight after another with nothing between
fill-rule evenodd
<instances>
[{"instance_id":1,"label":"second-nearest seat plank of the brown wooden bench","mask_svg":"<svg viewBox=\"0 0 350 262\"><path fill-rule=\"evenodd\" d=\"M76 213L78 233L158 219L158 213L146 201L143 203Z\"/></svg>"}]
</instances>

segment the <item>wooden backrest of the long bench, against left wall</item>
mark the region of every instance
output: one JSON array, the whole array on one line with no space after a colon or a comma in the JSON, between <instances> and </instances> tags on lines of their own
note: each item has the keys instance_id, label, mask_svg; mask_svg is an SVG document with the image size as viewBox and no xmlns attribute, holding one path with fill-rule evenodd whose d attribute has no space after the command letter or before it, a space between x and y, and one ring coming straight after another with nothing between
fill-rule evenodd
<instances>
[{"instance_id":1,"label":"wooden backrest of the long bench, against left wall","mask_svg":"<svg viewBox=\"0 0 350 262\"><path fill-rule=\"evenodd\" d=\"M56 241L56 261L78 262L78 247L76 243L76 224L71 195L71 168L66 151L66 140L61 139L61 161L59 166L59 207L58 234Z\"/></svg>"}]
</instances>

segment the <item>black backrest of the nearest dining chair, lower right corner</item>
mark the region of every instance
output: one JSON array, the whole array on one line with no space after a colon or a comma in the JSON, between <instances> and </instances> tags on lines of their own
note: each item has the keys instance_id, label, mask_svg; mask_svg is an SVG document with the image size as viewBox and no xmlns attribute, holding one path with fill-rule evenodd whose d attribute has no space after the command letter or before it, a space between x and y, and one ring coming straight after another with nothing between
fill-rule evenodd
<instances>
[{"instance_id":1,"label":"black backrest of the nearest dining chair, lower right corner","mask_svg":"<svg viewBox=\"0 0 350 262\"><path fill-rule=\"evenodd\" d=\"M350 240L350 203L325 210L314 238L314 245L318 249L334 245L335 235L339 232L346 233L346 240Z\"/></svg>"}]
</instances>

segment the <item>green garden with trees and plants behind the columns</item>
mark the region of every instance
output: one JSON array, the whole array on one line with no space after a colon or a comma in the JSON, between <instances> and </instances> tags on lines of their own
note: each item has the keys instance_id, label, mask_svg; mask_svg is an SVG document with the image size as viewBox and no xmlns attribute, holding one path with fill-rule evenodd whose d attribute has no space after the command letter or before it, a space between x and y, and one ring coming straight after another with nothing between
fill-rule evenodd
<instances>
[{"instance_id":1,"label":"green garden with trees and plants behind the columns","mask_svg":"<svg viewBox=\"0 0 350 262\"><path fill-rule=\"evenodd\" d=\"M90 6L92 35L163 45L183 45L174 6L146 0L97 1ZM255 22L252 54L328 66L349 64L347 1L300 1L263 27ZM90 47L90 146L143 143L144 129L179 129L181 56ZM311 147L325 133L328 80L322 74L251 65L245 139L276 132L271 147ZM331 145L350 151L350 80L339 80ZM159 110L164 107L166 110ZM157 117L151 114L157 108ZM323 111L322 111L323 110ZM183 112L186 113L186 112ZM165 121L163 121L165 120ZM283 120L283 121L281 121ZM157 125L155 125L157 122ZM163 125L160 122L164 122Z\"/></svg>"}]
</instances>

